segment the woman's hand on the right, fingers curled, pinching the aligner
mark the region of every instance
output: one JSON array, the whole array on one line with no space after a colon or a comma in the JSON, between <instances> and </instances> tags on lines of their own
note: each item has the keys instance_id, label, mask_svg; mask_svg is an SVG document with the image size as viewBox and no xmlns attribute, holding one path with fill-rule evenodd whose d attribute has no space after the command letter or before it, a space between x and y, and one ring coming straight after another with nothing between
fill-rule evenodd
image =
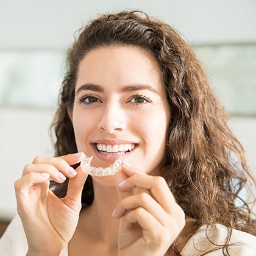
<instances>
[{"instance_id":1,"label":"woman's hand on the right, fingers curled, pinching the aligner","mask_svg":"<svg viewBox=\"0 0 256 256\"><path fill-rule=\"evenodd\" d=\"M122 165L115 180L121 200L113 212L121 219L118 255L165 255L185 226L165 179Z\"/></svg>"}]
</instances>

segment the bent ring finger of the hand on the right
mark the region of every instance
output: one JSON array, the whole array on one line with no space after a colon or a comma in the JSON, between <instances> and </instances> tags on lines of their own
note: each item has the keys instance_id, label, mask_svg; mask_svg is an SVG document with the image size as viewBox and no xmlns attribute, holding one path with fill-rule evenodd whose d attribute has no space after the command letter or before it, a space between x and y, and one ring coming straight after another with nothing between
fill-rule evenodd
<instances>
[{"instance_id":1,"label":"bent ring finger of the hand on the right","mask_svg":"<svg viewBox=\"0 0 256 256\"><path fill-rule=\"evenodd\" d=\"M159 221L162 225L165 225L169 215L163 210L163 208L152 198L148 193L140 193L135 194L133 196L129 196L124 198L116 207L113 216L119 219L126 215L127 211L134 210L135 208L142 207L147 212L151 213L157 221Z\"/></svg>"}]
</instances>

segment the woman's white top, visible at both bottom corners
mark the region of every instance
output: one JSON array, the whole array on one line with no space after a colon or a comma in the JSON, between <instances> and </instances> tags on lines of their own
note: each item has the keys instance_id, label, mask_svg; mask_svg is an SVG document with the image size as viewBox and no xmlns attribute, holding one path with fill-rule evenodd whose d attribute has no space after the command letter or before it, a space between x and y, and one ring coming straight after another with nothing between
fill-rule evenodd
<instances>
[{"instance_id":1,"label":"woman's white top, visible at both bottom corners","mask_svg":"<svg viewBox=\"0 0 256 256\"><path fill-rule=\"evenodd\" d=\"M205 230L206 226L200 227L190 238L180 254L183 256L198 256L216 246L208 241ZM216 228L207 232L210 240L215 244L223 244L226 240L227 228L217 224ZM233 230L230 243L236 243L229 247L229 254L232 256L256 256L256 237L249 233ZM13 218L0 240L1 256L25 256L27 254L27 240L21 219L18 215ZM209 256L221 256L222 250L210 252ZM68 247L65 248L62 256L68 256Z\"/></svg>"}]
</instances>

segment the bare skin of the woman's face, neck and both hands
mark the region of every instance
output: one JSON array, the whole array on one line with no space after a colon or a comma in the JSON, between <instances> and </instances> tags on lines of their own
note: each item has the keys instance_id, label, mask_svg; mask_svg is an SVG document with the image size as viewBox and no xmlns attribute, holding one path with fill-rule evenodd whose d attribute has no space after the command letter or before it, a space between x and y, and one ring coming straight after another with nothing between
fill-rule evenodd
<instances>
[{"instance_id":1,"label":"bare skin of the woman's face, neck and both hands","mask_svg":"<svg viewBox=\"0 0 256 256\"><path fill-rule=\"evenodd\" d=\"M95 143L135 148L115 176L93 177L93 204L81 212L87 175L70 165L82 154L36 157L26 165L15 190L27 255L60 255L67 244L69 255L164 255L185 215L158 176L169 110L157 63L141 49L100 48L80 62L75 90L69 116L77 148L94 156L93 166L105 168L119 157L100 154ZM64 199L49 191L49 177L71 178Z\"/></svg>"}]
</instances>

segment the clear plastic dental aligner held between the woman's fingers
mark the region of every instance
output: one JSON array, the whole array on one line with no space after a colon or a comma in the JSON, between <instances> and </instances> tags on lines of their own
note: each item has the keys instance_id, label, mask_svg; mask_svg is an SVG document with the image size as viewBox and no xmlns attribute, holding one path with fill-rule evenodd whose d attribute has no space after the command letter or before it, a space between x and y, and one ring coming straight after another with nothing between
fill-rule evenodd
<instances>
[{"instance_id":1,"label":"clear plastic dental aligner held between the woman's fingers","mask_svg":"<svg viewBox=\"0 0 256 256\"><path fill-rule=\"evenodd\" d=\"M92 167L91 166L91 160L93 160L93 155L91 157L87 157L87 155L84 154L84 157L81 160L81 168L82 171L90 174L91 176L110 176L115 175L116 172L120 171L121 169L121 157L118 158L113 165L110 165L107 168L102 167Z\"/></svg>"}]
</instances>

